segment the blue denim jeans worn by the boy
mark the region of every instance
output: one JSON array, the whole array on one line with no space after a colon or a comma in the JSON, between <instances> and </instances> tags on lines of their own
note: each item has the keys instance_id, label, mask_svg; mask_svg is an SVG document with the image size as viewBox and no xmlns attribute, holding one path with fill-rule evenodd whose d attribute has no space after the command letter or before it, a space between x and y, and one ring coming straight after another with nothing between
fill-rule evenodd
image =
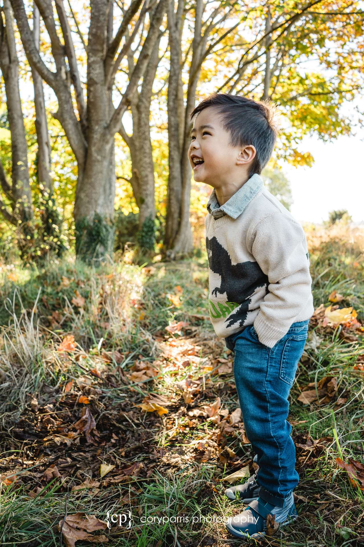
<instances>
[{"instance_id":1,"label":"blue denim jeans worn by the boy","mask_svg":"<svg viewBox=\"0 0 364 547\"><path fill-rule=\"evenodd\" d=\"M259 497L285 507L299 483L296 450L287 421L288 395L306 344L309 319L293 323L272 348L261 344L254 325L225 338L235 352L234 377L244 428L258 456Z\"/></svg>"}]
</instances>

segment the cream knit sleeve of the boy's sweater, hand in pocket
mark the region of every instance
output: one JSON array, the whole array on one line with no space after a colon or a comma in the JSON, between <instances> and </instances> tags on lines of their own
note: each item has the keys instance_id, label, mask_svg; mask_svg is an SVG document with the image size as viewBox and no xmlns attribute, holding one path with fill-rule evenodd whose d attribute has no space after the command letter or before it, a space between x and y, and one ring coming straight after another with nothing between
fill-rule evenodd
<instances>
[{"instance_id":1,"label":"cream knit sleeve of the boy's sweater, hand in pocket","mask_svg":"<svg viewBox=\"0 0 364 547\"><path fill-rule=\"evenodd\" d=\"M271 213L255 227L251 248L269 281L254 329L261 344L273 347L312 298L305 232L285 214Z\"/></svg>"}]
</instances>

